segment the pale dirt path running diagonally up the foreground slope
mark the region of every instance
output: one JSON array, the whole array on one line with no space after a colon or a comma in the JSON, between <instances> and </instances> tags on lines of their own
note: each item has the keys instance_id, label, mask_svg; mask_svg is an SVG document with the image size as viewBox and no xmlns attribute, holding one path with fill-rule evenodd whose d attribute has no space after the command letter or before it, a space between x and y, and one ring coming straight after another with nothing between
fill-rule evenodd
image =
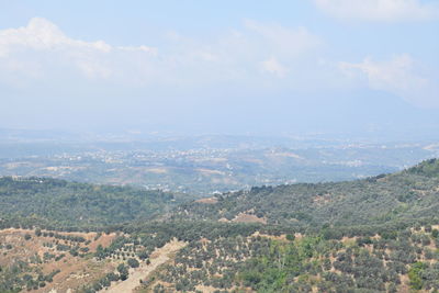
<instances>
[{"instance_id":1,"label":"pale dirt path running diagonally up the foreground slope","mask_svg":"<svg viewBox=\"0 0 439 293\"><path fill-rule=\"evenodd\" d=\"M149 264L142 264L139 268L135 269L134 272L130 273L128 279L123 282L115 283L110 286L108 290L103 290L101 292L105 293L132 293L135 288L137 288L140 283L139 280L145 279L149 273L157 269L160 264L164 264L169 260L169 256L172 252L183 248L185 246L184 243L172 240L166 244L164 247L156 249L150 257Z\"/></svg>"}]
</instances>

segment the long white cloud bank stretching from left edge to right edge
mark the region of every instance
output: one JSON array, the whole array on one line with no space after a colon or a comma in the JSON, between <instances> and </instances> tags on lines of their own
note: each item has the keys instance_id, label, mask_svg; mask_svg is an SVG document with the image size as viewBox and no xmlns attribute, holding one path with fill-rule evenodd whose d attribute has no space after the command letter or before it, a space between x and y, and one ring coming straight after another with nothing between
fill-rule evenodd
<instances>
[{"instance_id":1,"label":"long white cloud bank stretching from left edge to right edge","mask_svg":"<svg viewBox=\"0 0 439 293\"><path fill-rule=\"evenodd\" d=\"M158 91L200 89L225 83L255 91L266 87L315 91L360 83L416 104L439 104L435 95L439 93L434 82L437 78L421 72L408 55L385 61L365 58L340 63L335 68L330 60L322 61L322 46L320 38L305 27L249 20L239 30L209 38L175 33L160 49L112 46L104 41L71 38L52 22L36 18L24 27L0 31L0 82L29 89L36 83L54 88L63 84L67 87L63 90L75 87L74 91L103 84L98 82L106 82L105 90L120 91L148 87ZM81 78L86 83L78 83Z\"/></svg>"}]
</instances>

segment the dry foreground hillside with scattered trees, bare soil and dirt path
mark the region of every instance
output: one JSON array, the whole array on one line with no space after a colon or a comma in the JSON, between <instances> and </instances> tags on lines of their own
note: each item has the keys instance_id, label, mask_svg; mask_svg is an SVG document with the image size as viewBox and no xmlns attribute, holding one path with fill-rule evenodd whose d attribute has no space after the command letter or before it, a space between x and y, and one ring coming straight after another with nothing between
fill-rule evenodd
<instances>
[{"instance_id":1,"label":"dry foreground hillside with scattered trees, bare soil and dirt path","mask_svg":"<svg viewBox=\"0 0 439 293\"><path fill-rule=\"evenodd\" d=\"M0 232L0 292L431 292L438 228L341 239L210 222L109 234L11 228Z\"/></svg>"}]
</instances>

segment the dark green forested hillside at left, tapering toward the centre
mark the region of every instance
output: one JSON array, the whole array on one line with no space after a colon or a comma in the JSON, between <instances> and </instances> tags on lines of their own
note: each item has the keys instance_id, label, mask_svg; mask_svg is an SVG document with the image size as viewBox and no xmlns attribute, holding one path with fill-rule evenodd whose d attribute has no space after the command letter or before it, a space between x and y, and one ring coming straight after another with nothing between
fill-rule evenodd
<instances>
[{"instance_id":1,"label":"dark green forested hillside at left, tapering toward the centre","mask_svg":"<svg viewBox=\"0 0 439 293\"><path fill-rule=\"evenodd\" d=\"M3 227L102 227L153 218L181 201L171 193L139 188L49 178L0 178Z\"/></svg>"}]
</instances>

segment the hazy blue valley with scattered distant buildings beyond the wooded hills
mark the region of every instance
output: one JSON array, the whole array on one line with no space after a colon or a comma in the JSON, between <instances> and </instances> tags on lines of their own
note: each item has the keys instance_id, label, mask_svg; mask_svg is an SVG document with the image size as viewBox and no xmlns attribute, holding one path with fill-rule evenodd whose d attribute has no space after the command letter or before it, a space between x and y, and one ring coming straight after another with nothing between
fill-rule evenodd
<instances>
[{"instance_id":1,"label":"hazy blue valley with scattered distant buildings beyond the wooded hills","mask_svg":"<svg viewBox=\"0 0 439 293\"><path fill-rule=\"evenodd\" d=\"M0 173L136 185L206 198L259 185L361 179L439 156L437 143L428 140L372 144L257 136L114 139L22 142L5 136L0 143Z\"/></svg>"}]
</instances>

